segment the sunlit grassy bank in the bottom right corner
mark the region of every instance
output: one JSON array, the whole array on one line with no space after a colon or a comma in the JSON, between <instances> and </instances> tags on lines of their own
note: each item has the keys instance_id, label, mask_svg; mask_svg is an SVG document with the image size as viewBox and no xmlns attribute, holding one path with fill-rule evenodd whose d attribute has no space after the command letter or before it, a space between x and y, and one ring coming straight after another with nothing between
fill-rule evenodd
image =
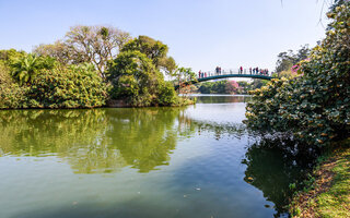
<instances>
[{"instance_id":1,"label":"sunlit grassy bank in the bottom right corner","mask_svg":"<svg viewBox=\"0 0 350 218\"><path fill-rule=\"evenodd\" d=\"M350 217L350 138L319 158L308 185L290 204L293 217Z\"/></svg>"}]
</instances>

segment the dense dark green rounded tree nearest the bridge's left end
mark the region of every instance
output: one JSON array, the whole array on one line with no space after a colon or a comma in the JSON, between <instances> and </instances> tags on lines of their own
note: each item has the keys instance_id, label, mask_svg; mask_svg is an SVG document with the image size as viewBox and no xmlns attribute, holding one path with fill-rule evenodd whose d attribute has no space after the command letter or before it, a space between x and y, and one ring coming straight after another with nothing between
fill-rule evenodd
<instances>
[{"instance_id":1,"label":"dense dark green rounded tree nearest the bridge's left end","mask_svg":"<svg viewBox=\"0 0 350 218\"><path fill-rule=\"evenodd\" d=\"M163 74L140 51L119 53L109 63L107 74L113 84L110 97L125 100L131 106L166 106L172 105L176 98L174 87L165 84Z\"/></svg>"}]
</instances>

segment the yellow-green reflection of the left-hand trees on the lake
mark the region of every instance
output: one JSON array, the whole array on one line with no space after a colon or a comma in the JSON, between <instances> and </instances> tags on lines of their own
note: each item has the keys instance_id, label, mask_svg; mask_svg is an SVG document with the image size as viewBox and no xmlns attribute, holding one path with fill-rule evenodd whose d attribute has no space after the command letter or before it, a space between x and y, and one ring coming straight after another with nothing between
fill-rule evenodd
<instances>
[{"instance_id":1,"label":"yellow-green reflection of the left-hand trees on the lake","mask_svg":"<svg viewBox=\"0 0 350 218\"><path fill-rule=\"evenodd\" d=\"M182 109L0 111L0 150L68 160L75 173L148 172L167 165Z\"/></svg>"}]
</instances>

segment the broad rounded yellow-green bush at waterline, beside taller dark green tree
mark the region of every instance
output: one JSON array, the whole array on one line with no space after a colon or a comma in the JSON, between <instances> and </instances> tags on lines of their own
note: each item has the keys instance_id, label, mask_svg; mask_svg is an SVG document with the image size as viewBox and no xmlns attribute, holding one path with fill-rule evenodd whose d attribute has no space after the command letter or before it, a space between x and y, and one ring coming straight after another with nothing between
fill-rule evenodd
<instances>
[{"instance_id":1,"label":"broad rounded yellow-green bush at waterline, beside taller dark green tree","mask_svg":"<svg viewBox=\"0 0 350 218\"><path fill-rule=\"evenodd\" d=\"M46 70L38 75L28 100L38 108L93 108L105 105L106 84L91 65Z\"/></svg>"}]
</instances>

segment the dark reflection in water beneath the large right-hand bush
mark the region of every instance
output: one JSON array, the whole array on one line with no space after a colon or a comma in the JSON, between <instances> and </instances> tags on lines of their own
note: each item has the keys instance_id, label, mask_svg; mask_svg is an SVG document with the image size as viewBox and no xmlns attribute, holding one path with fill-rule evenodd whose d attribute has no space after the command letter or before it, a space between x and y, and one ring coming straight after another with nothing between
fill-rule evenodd
<instances>
[{"instance_id":1,"label":"dark reflection in water beneath the large right-hand bush","mask_svg":"<svg viewBox=\"0 0 350 218\"><path fill-rule=\"evenodd\" d=\"M247 166L244 180L261 190L264 196L275 203L275 217L280 217L288 211L285 205L295 191L290 184L302 187L302 181L314 166L318 152L290 138L262 138L248 147L242 160Z\"/></svg>"}]
</instances>

